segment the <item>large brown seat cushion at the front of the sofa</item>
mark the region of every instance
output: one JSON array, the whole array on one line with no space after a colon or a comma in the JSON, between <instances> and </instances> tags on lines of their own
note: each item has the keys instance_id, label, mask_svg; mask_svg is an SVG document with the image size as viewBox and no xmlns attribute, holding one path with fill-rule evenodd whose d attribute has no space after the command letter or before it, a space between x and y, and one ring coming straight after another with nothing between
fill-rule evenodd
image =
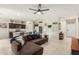
<instances>
[{"instance_id":1,"label":"large brown seat cushion at the front of the sofa","mask_svg":"<svg viewBox=\"0 0 79 59\"><path fill-rule=\"evenodd\" d=\"M35 55L42 54L43 48L33 42L27 42L18 54L20 55Z\"/></svg>"}]
</instances>

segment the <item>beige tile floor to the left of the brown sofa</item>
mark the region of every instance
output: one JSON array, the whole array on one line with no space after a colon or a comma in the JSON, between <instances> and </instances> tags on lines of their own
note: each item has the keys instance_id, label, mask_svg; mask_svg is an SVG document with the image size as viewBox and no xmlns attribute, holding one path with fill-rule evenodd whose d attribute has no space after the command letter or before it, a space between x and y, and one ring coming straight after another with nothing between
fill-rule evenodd
<instances>
[{"instance_id":1,"label":"beige tile floor to the left of the brown sofa","mask_svg":"<svg viewBox=\"0 0 79 59\"><path fill-rule=\"evenodd\" d=\"M0 40L0 55L11 55L11 45L10 39L2 39Z\"/></svg>"}]
</instances>

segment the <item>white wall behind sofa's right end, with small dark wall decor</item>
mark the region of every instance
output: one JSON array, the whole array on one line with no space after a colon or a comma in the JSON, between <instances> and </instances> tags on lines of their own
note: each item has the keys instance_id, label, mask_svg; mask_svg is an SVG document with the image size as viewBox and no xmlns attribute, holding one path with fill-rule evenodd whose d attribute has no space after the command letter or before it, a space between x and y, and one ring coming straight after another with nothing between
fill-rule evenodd
<instances>
[{"instance_id":1,"label":"white wall behind sofa's right end, with small dark wall decor","mask_svg":"<svg viewBox=\"0 0 79 59\"><path fill-rule=\"evenodd\" d=\"M43 35L47 34L50 40L58 39L58 24L53 24L53 22L59 22L58 19L49 18L49 20L42 20L43 21ZM46 26L45 26L46 24ZM48 25L52 25L51 28L48 28Z\"/></svg>"}]
</instances>

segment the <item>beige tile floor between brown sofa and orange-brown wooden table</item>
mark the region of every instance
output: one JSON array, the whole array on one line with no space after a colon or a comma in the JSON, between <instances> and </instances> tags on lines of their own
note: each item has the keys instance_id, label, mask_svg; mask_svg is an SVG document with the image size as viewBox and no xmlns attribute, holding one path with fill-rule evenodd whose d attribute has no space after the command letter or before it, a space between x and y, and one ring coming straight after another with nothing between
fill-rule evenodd
<instances>
[{"instance_id":1,"label":"beige tile floor between brown sofa and orange-brown wooden table","mask_svg":"<svg viewBox=\"0 0 79 59\"><path fill-rule=\"evenodd\" d=\"M44 47L43 55L70 55L71 39L49 40L48 43L42 45Z\"/></svg>"}]
</instances>

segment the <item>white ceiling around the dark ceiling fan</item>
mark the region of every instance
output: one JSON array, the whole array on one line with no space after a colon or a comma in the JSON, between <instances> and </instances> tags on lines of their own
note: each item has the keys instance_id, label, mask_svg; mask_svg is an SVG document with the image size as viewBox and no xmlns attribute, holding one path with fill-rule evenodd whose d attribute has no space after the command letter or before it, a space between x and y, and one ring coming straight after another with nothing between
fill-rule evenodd
<instances>
[{"instance_id":1,"label":"white ceiling around the dark ceiling fan","mask_svg":"<svg viewBox=\"0 0 79 59\"><path fill-rule=\"evenodd\" d=\"M49 8L43 15L33 14L29 8L37 8L37 4L0 4L0 17L26 20L56 20L58 17L70 17L79 14L77 4L43 4L42 8Z\"/></svg>"}]
</instances>

